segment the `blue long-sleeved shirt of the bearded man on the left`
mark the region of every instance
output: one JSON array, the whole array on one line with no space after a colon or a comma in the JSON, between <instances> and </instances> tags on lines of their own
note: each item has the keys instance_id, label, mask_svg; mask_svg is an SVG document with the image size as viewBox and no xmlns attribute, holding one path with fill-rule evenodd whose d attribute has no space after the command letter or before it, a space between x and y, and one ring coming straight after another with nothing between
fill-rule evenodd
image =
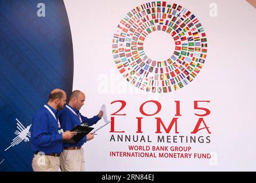
<instances>
[{"instance_id":1,"label":"blue long-sleeved shirt of the bearded man on the left","mask_svg":"<svg viewBox=\"0 0 256 183\"><path fill-rule=\"evenodd\" d=\"M49 105L47 106L56 116L57 110ZM63 152L62 134L58 132L59 128L56 119L45 107L42 107L34 114L30 139L31 148L34 153L44 152L45 154L50 154Z\"/></svg>"}]
</instances>

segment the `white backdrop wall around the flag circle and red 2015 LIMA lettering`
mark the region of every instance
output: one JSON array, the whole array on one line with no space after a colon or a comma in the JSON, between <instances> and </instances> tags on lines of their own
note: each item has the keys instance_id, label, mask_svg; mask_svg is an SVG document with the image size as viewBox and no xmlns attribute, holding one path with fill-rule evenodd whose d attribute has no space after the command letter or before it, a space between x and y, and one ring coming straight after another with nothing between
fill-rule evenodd
<instances>
[{"instance_id":1,"label":"white backdrop wall around the flag circle and red 2015 LIMA lettering","mask_svg":"<svg viewBox=\"0 0 256 183\"><path fill-rule=\"evenodd\" d=\"M203 69L191 83L174 92L153 95L142 92L122 77L115 66L111 50L113 34L119 21L134 7L149 1L64 2L73 41L73 89L82 90L86 94L82 114L92 117L98 114L102 104L106 104L110 114L117 111L120 106L110 103L124 100L127 105L121 113L126 113L127 116L115 117L115 129L125 130L126 135L149 136L152 141L110 141L112 134L116 137L117 134L123 133L110 133L109 125L101 129L94 140L83 146L87 171L256 170L256 87L253 78L256 67L256 11L253 6L242 0L166 1L186 7L196 15L207 35L208 51ZM209 14L211 3L218 6L217 17L211 17ZM162 40L162 45L169 43L164 40L164 35L155 35L152 40L154 39L156 42ZM150 43L149 50L154 48ZM152 50L152 55L154 54L157 54L156 50ZM139 113L139 106L148 100L157 100L161 103L162 110L156 116L145 117ZM155 117L161 117L168 126L176 113L174 101L180 101L180 133L174 134L172 129L170 134L162 135L191 135L190 132L195 128L199 118L195 116L194 113L197 111L193 109L193 101L196 100L211 101L210 104L203 104L203 107L211 110L211 114L204 117L211 134L205 129L196 134L210 136L211 142L157 143L156 137L159 134L155 133ZM155 110L154 105L147 105L145 108L146 112ZM136 134L136 117L143 117L142 134ZM103 123L101 120L95 126ZM131 152L129 145L191 146L191 153L211 153L214 159L110 156L110 152Z\"/></svg>"}]
</instances>

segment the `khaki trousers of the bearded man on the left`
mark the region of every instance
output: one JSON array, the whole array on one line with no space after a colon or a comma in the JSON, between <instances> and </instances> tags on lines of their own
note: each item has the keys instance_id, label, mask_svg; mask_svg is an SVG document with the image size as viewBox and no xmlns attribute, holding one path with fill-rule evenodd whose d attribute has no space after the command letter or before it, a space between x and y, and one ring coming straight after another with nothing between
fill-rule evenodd
<instances>
[{"instance_id":1,"label":"khaki trousers of the bearded man on the left","mask_svg":"<svg viewBox=\"0 0 256 183\"><path fill-rule=\"evenodd\" d=\"M32 168L34 172L58 172L60 157L34 154Z\"/></svg>"}]
</instances>

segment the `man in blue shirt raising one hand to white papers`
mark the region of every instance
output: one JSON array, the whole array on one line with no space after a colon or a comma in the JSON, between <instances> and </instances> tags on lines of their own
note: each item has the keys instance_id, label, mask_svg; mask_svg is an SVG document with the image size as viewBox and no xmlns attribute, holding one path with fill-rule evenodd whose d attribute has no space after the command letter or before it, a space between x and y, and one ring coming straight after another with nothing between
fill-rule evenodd
<instances>
[{"instance_id":1,"label":"man in blue shirt raising one hand to white papers","mask_svg":"<svg viewBox=\"0 0 256 183\"><path fill-rule=\"evenodd\" d=\"M83 92L80 92L79 90L72 92L68 105L65 106L59 115L60 124L64 130L71 130L76 125L86 124L91 126L96 124L96 122L102 118L103 112L101 110L98 115L92 118L84 117L79 113L79 110L84 105L85 100L86 96ZM94 138L94 134L87 134L87 136L82 138L82 140L77 142L77 144L69 144L64 142L64 151L60 156L61 171L83 172L85 170L82 145L86 141L92 140L92 138Z\"/></svg>"}]
</instances>

